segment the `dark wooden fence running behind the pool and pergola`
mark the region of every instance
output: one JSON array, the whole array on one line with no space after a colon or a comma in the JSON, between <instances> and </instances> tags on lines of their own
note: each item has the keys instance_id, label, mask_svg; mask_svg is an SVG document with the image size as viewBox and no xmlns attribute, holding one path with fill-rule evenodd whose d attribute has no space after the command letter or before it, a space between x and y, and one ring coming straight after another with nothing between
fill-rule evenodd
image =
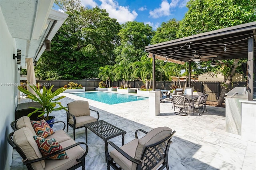
<instances>
[{"instance_id":1,"label":"dark wooden fence running behind the pool and pergola","mask_svg":"<svg viewBox=\"0 0 256 170\"><path fill-rule=\"evenodd\" d=\"M64 85L68 85L68 82L73 81L74 83L81 84L83 87L86 87L86 91L93 91L95 87L98 86L101 80L99 79L89 79L89 80L38 80L37 83L44 85L46 87L50 87L54 85L54 89L58 87L64 87ZM221 83L224 82L198 82L192 81L191 87L194 87L194 90L203 92L204 94L208 94L208 101L218 101L220 92L222 91ZM120 87L123 85L123 81L114 81L111 82L111 86ZM142 81L128 81L129 87L132 88L140 88L144 83ZM181 81L181 87L184 87L185 82ZM149 86L149 83L148 83ZM151 83L152 86L152 83ZM156 89L164 89L171 90L172 86L179 86L177 81L156 81ZM230 84L230 89L234 87L246 87L246 82L232 82Z\"/></svg>"}]
</instances>

